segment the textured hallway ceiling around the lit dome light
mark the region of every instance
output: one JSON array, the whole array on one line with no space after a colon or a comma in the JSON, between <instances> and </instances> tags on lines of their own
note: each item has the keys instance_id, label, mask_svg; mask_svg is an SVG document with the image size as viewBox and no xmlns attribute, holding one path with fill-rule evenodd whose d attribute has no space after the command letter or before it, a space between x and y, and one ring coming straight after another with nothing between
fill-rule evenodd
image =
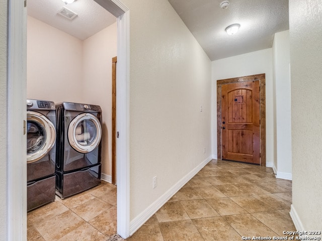
<instances>
[{"instance_id":1,"label":"textured hallway ceiling around the lit dome light","mask_svg":"<svg viewBox=\"0 0 322 241\"><path fill-rule=\"evenodd\" d=\"M289 29L288 0L169 0L211 60L271 48L274 33ZM240 24L235 35L225 28Z\"/></svg>"}]
</instances>

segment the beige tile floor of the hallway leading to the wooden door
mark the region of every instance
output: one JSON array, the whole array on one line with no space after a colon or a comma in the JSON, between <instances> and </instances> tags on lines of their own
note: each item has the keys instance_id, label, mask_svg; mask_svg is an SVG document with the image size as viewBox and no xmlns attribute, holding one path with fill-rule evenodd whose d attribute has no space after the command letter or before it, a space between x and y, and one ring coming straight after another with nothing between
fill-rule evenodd
<instances>
[{"instance_id":1,"label":"beige tile floor of the hallway leading to the wooden door","mask_svg":"<svg viewBox=\"0 0 322 241\"><path fill-rule=\"evenodd\" d=\"M289 215L292 182L272 173L272 168L212 160L126 240L285 237L283 231L296 230Z\"/></svg>"}]
</instances>

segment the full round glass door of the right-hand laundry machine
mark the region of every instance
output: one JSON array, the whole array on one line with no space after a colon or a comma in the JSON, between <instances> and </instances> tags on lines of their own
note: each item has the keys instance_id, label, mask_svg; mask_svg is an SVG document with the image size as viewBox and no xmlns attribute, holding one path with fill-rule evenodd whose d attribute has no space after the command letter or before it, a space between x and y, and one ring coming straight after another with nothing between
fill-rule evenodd
<instances>
[{"instance_id":1,"label":"full round glass door of the right-hand laundry machine","mask_svg":"<svg viewBox=\"0 0 322 241\"><path fill-rule=\"evenodd\" d=\"M69 145L77 152L89 153L93 151L100 144L101 137L101 124L94 114L78 114L69 124Z\"/></svg>"}]
</instances>

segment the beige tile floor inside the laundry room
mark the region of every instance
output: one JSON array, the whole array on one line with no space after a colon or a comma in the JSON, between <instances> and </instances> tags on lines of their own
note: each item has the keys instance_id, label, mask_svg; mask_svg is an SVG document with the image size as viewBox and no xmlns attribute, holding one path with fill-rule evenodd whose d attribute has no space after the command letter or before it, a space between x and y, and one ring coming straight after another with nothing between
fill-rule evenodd
<instances>
[{"instance_id":1,"label":"beige tile floor inside the laundry room","mask_svg":"<svg viewBox=\"0 0 322 241\"><path fill-rule=\"evenodd\" d=\"M104 181L65 199L56 196L54 202L27 214L30 241L106 241L115 233L116 186Z\"/></svg>"}]
</instances>

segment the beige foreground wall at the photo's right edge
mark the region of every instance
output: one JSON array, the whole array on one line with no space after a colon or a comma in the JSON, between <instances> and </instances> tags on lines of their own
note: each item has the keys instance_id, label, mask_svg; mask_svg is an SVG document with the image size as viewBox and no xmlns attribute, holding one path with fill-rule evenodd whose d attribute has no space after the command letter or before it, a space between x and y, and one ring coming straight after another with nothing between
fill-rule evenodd
<instances>
[{"instance_id":1,"label":"beige foreground wall at the photo's right edge","mask_svg":"<svg viewBox=\"0 0 322 241\"><path fill-rule=\"evenodd\" d=\"M289 0L293 211L322 230L322 2Z\"/></svg>"}]
</instances>

